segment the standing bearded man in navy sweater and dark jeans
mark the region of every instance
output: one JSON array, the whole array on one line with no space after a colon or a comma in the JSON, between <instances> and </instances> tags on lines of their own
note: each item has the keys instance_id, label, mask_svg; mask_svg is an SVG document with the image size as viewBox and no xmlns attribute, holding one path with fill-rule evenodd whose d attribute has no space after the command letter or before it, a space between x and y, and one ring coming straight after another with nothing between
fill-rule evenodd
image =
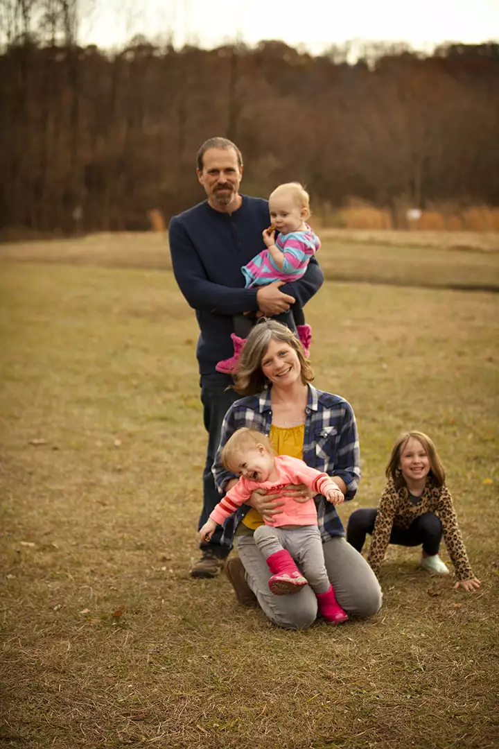
<instances>
[{"instance_id":1,"label":"standing bearded man in navy sweater and dark jeans","mask_svg":"<svg viewBox=\"0 0 499 749\"><path fill-rule=\"evenodd\" d=\"M227 390L232 384L230 375L215 371L219 361L233 354L230 334L234 333L235 319L248 311L267 317L279 315L295 301L303 306L319 291L323 276L312 258L307 272L293 284L276 281L245 289L241 267L265 247L262 232L269 225L268 202L239 195L242 156L239 148L225 138L210 138L203 143L196 171L207 199L174 216L169 237L175 278L195 309L200 327L196 356L208 449L199 530L220 499L211 469L221 423L228 407L239 397L234 390ZM191 570L192 577L215 577L230 552L230 548L221 545L220 526L209 542L200 544L200 550L201 558Z\"/></svg>"}]
</instances>

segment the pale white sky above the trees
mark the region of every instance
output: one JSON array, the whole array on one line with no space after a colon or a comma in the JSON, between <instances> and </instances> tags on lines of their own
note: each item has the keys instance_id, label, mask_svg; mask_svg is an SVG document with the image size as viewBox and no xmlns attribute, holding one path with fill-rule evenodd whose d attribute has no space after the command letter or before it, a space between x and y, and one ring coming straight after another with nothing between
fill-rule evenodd
<instances>
[{"instance_id":1,"label":"pale white sky above the trees","mask_svg":"<svg viewBox=\"0 0 499 749\"><path fill-rule=\"evenodd\" d=\"M102 47L135 34L203 47L279 39L313 53L359 39L405 41L414 49L499 39L499 0L87 1L80 39Z\"/></svg>"}]
</instances>

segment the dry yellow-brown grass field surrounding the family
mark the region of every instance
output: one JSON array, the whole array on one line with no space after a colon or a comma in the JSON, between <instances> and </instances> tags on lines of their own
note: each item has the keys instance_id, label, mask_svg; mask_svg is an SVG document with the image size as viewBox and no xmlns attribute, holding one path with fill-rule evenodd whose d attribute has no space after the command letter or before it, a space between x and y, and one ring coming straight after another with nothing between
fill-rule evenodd
<instances>
[{"instance_id":1,"label":"dry yellow-brown grass field surrounding the family","mask_svg":"<svg viewBox=\"0 0 499 749\"><path fill-rule=\"evenodd\" d=\"M161 238L0 246L2 749L499 745L499 297L424 288L437 256L443 286L499 287L497 248L341 237L307 321L317 386L358 417L343 521L428 431L482 589L390 548L377 616L289 632L190 579L197 328Z\"/></svg>"}]
</instances>

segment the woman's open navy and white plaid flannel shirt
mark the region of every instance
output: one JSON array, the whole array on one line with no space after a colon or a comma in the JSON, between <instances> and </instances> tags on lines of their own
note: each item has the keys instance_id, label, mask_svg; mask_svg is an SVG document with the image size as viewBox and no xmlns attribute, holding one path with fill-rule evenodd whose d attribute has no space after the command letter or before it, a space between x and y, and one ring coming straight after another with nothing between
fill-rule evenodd
<instances>
[{"instance_id":1,"label":"woman's open navy and white plaid flannel shirt","mask_svg":"<svg viewBox=\"0 0 499 749\"><path fill-rule=\"evenodd\" d=\"M305 430L303 440L303 460L311 468L340 476L346 484L346 500L352 500L361 478L357 424L352 406L339 395L322 392L309 385L308 403L305 409ZM225 414L221 428L221 440L212 473L220 494L229 479L236 478L221 464L221 449L229 437L243 426L257 429L269 436L272 426L272 406L270 389L260 395L248 395L236 401ZM315 497L319 530L322 542L331 536L344 536L345 530L334 505L318 494ZM249 506L242 505L224 523L221 544L232 546L236 527L248 512Z\"/></svg>"}]
</instances>

